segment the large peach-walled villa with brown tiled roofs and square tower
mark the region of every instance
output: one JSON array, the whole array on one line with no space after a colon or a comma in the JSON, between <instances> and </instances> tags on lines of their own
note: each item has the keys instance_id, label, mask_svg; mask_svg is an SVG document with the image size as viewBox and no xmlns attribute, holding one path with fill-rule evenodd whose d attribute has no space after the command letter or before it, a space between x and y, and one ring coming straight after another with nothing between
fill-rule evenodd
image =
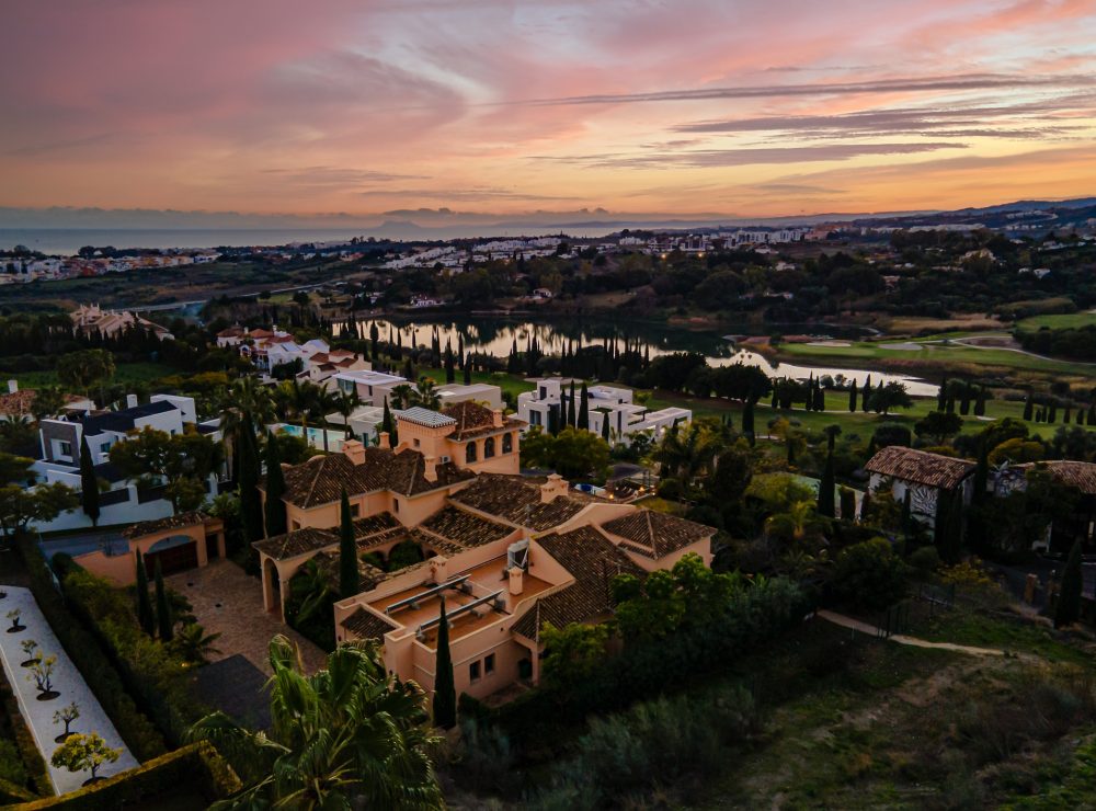
<instances>
[{"instance_id":1,"label":"large peach-walled villa with brown tiled roofs and square tower","mask_svg":"<svg viewBox=\"0 0 1096 811\"><path fill-rule=\"evenodd\" d=\"M362 592L335 603L335 638L379 640L388 669L426 690L443 598L457 692L483 698L539 679L546 622L609 618L617 574L644 576L688 552L711 562L711 527L572 493L556 475L520 476L523 424L499 411L460 403L397 419L397 448L383 434L379 447L351 441L287 466L290 529L253 546L267 610L284 614L288 583L309 561L338 592L345 488ZM390 568L400 546L420 562Z\"/></svg>"}]
</instances>

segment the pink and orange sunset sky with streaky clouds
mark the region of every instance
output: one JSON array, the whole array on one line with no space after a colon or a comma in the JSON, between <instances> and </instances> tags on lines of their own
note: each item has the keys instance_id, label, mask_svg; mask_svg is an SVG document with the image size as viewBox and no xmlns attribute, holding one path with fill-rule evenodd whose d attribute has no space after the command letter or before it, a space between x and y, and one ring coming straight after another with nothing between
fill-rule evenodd
<instances>
[{"instance_id":1,"label":"pink and orange sunset sky with streaky clouds","mask_svg":"<svg viewBox=\"0 0 1096 811\"><path fill-rule=\"evenodd\" d=\"M2 19L0 206L1096 194L1096 0L11 0Z\"/></svg>"}]
</instances>

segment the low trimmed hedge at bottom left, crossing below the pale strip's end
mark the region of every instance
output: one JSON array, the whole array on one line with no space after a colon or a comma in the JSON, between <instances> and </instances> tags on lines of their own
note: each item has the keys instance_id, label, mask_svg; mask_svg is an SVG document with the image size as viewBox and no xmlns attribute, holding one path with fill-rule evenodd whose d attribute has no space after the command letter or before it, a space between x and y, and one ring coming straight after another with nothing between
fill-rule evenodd
<instances>
[{"instance_id":1,"label":"low trimmed hedge at bottom left, crossing below the pale strip's end","mask_svg":"<svg viewBox=\"0 0 1096 811\"><path fill-rule=\"evenodd\" d=\"M197 790L208 802L235 795L242 789L232 767L213 744L198 741L149 761L105 780L93 783L62 797L50 797L20 806L20 811L42 808L72 811L113 811L135 803L151 803L171 792ZM149 806L151 807L151 806Z\"/></svg>"}]
</instances>

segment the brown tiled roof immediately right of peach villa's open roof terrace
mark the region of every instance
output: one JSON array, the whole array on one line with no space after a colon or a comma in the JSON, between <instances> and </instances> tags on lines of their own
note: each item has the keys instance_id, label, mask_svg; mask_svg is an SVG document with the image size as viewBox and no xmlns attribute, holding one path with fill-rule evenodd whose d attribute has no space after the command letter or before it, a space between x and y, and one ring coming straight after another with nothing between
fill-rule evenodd
<instances>
[{"instance_id":1,"label":"brown tiled roof immediately right of peach villa's open roof terrace","mask_svg":"<svg viewBox=\"0 0 1096 811\"><path fill-rule=\"evenodd\" d=\"M617 546L592 526L537 540L574 578L574 583L537 599L513 625L513 631L539 641L545 622L563 628L613 613L610 585L617 574L644 576L644 572Z\"/></svg>"}]
</instances>

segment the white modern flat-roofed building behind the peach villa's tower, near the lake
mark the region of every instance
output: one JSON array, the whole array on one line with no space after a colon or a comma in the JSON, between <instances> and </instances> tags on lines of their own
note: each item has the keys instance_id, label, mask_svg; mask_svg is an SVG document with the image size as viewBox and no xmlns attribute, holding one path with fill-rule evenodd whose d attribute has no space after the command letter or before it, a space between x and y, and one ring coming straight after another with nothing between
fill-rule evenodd
<instances>
[{"instance_id":1,"label":"white modern flat-roofed building behind the peach villa's tower, near the lake","mask_svg":"<svg viewBox=\"0 0 1096 811\"><path fill-rule=\"evenodd\" d=\"M559 413L564 392L570 396L571 382L571 378L562 377L536 380L536 389L517 396L517 419L524 420L530 427L540 425L547 430L549 414L553 409ZM582 381L573 382L578 398ZM589 424L579 427L604 436L604 425L608 422L608 434L614 442L630 443L631 437L640 433L649 433L654 439L661 439L674 425L684 426L693 421L693 412L688 409L651 411L646 406L632 402L631 389L618 386L591 386L586 395Z\"/></svg>"}]
</instances>

